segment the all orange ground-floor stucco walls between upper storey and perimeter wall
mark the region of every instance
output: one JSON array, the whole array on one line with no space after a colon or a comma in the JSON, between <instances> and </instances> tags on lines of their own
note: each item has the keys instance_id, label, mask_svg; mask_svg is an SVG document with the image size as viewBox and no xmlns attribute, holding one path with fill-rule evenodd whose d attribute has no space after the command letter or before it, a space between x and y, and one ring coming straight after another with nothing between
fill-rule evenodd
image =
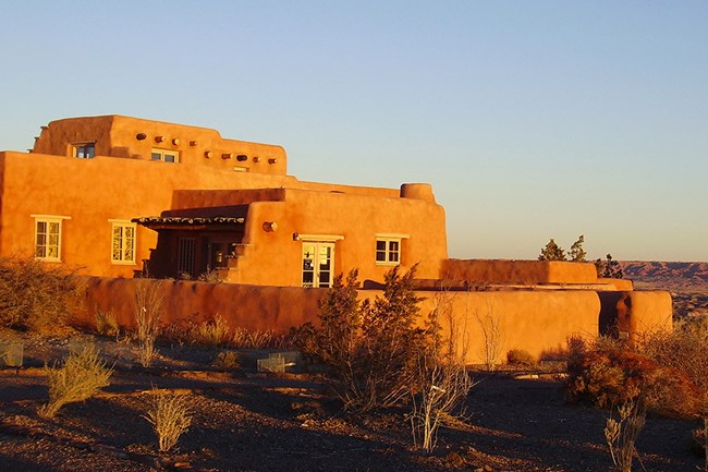
<instances>
[{"instance_id":1,"label":"all orange ground-floor stucco walls between upper storey and perimeter wall","mask_svg":"<svg viewBox=\"0 0 708 472\"><path fill-rule=\"evenodd\" d=\"M0 153L0 253L33 254L32 215L68 217L62 262L87 275L132 277L157 245L157 233L138 226L136 263L112 264L110 220L179 213L171 208L225 216L229 205L239 204L251 204L244 240L251 247L230 281L300 286L302 242L293 233L344 237L337 242L334 273L357 267L364 279L381 281L389 268L375 264L376 234L407 235L402 262L420 262L420 277L437 278L447 257L444 210L431 192L419 199L401 197L398 189L327 186L200 165L37 153ZM276 221L278 231L265 232L265 221Z\"/></svg>"}]
</instances>

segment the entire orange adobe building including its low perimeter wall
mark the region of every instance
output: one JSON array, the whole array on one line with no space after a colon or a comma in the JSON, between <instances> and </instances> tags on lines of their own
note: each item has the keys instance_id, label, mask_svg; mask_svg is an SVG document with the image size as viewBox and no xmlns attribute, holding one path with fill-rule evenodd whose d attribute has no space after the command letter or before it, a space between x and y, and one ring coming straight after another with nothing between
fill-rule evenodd
<instances>
[{"instance_id":1,"label":"entire orange adobe building including its low perimeter wall","mask_svg":"<svg viewBox=\"0 0 708 472\"><path fill-rule=\"evenodd\" d=\"M392 266L416 263L422 290L445 287L467 313L503 312L505 344L537 354L570 334L671 317L668 293L598 279L591 264L450 259L429 184L302 182L281 146L122 116L52 121L28 153L0 153L0 256L13 255L101 278L89 299L103 308L135 275L176 280L172 322L218 312L286 330L316 317L317 289L334 275L358 268L363 288L376 288ZM205 276L229 283L187 281Z\"/></svg>"}]
</instances>

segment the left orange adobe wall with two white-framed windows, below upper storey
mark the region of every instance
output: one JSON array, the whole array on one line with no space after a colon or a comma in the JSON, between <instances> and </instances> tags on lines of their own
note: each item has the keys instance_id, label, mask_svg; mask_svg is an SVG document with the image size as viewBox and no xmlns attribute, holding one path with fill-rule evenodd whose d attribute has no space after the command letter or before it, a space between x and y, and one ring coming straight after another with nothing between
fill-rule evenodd
<instances>
[{"instance_id":1,"label":"left orange adobe wall with two white-framed windows, below upper storey","mask_svg":"<svg viewBox=\"0 0 708 472\"><path fill-rule=\"evenodd\" d=\"M157 216L172 204L173 189L234 189L288 185L292 177L230 172L205 166L96 157L0 153L0 250L34 255L34 218L68 216L62 262L84 274L132 277L149 258L157 233L137 227L137 264L111 264L110 219ZM8 205L11 205L8 207Z\"/></svg>"}]
</instances>

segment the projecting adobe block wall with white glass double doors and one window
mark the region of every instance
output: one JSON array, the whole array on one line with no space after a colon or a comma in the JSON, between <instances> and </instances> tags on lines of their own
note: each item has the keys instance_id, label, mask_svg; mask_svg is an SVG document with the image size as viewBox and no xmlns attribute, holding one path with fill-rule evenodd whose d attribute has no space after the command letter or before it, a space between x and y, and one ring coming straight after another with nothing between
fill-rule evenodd
<instances>
[{"instance_id":1,"label":"projecting adobe block wall with white glass double doors and one window","mask_svg":"<svg viewBox=\"0 0 708 472\"><path fill-rule=\"evenodd\" d=\"M341 238L334 242L334 271L358 268L362 280L383 281L390 265L376 263L376 235L401 235L401 265L416 263L417 276L438 278L448 257L444 209L427 201L380 198L328 192L283 190L281 202L257 202L248 207L245 244L239 259L240 283L300 286L302 244L308 235ZM277 231L263 229L276 222ZM408 238L406 238L408 237Z\"/></svg>"}]
</instances>

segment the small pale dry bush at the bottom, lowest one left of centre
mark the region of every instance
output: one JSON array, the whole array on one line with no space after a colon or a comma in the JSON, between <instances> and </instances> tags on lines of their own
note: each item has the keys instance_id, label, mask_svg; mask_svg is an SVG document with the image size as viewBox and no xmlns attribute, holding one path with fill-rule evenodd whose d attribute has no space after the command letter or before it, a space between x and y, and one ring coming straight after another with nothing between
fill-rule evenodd
<instances>
[{"instance_id":1,"label":"small pale dry bush at the bottom, lowest one left of centre","mask_svg":"<svg viewBox=\"0 0 708 472\"><path fill-rule=\"evenodd\" d=\"M168 452L192 424L188 397L186 395L161 395L159 390L154 390L152 394L152 404L143 417L152 425L152 429L157 434L159 450Z\"/></svg>"}]
</instances>

